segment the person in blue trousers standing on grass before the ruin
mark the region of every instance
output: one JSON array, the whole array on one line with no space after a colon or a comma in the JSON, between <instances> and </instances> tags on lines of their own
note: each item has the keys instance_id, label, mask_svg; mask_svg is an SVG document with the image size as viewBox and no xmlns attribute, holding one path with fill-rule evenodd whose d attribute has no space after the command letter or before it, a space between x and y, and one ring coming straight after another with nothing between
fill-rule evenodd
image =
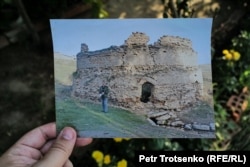
<instances>
[{"instance_id":1,"label":"person in blue trousers standing on grass before the ruin","mask_svg":"<svg viewBox=\"0 0 250 167\"><path fill-rule=\"evenodd\" d=\"M109 88L107 86L107 83L103 82L102 86L99 89L100 98L102 101L102 112L107 113L108 112L108 93Z\"/></svg>"}]
</instances>

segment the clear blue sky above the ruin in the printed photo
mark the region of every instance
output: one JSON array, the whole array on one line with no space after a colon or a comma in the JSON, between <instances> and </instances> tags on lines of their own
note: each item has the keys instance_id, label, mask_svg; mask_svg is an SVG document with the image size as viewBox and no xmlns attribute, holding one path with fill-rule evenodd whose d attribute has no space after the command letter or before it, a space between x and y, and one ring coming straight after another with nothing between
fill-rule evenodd
<instances>
[{"instance_id":1,"label":"clear blue sky above the ruin in the printed photo","mask_svg":"<svg viewBox=\"0 0 250 167\"><path fill-rule=\"evenodd\" d=\"M132 34L143 32L153 44L163 35L192 41L199 64L211 64L212 19L51 19L54 52L75 56L81 43L89 51L120 46Z\"/></svg>"}]
</instances>

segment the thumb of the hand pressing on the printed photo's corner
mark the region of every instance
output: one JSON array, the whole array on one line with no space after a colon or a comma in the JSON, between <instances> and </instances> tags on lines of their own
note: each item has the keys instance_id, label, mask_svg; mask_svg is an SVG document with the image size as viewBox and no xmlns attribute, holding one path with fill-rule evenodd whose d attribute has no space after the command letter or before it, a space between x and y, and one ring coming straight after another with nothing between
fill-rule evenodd
<instances>
[{"instance_id":1,"label":"thumb of the hand pressing on the printed photo's corner","mask_svg":"<svg viewBox=\"0 0 250 167\"><path fill-rule=\"evenodd\" d=\"M53 166L62 167L68 160L76 142L76 132L73 128L66 127L58 135L55 143L46 153L43 159L34 167Z\"/></svg>"}]
</instances>

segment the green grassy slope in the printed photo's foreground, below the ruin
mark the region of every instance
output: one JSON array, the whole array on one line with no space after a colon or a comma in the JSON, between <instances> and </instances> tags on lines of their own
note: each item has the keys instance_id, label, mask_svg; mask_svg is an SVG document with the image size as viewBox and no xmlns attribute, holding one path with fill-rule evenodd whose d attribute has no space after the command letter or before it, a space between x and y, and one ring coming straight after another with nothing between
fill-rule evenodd
<instances>
[{"instance_id":1,"label":"green grassy slope in the printed photo's foreground, below the ruin","mask_svg":"<svg viewBox=\"0 0 250 167\"><path fill-rule=\"evenodd\" d=\"M71 126L79 136L94 138L203 138L194 131L153 126L145 116L124 109L109 106L108 113L101 112L101 109L101 104L82 102L69 96L57 98L57 130ZM213 133L208 134L206 138L214 137Z\"/></svg>"}]
</instances>

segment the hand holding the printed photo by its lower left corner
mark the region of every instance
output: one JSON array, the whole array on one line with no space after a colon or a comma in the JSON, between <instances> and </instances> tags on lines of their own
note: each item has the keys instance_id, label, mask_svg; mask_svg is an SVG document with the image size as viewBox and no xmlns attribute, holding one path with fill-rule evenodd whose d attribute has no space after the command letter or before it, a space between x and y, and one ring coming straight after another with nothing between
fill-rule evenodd
<instances>
[{"instance_id":1,"label":"hand holding the printed photo by its lower left corner","mask_svg":"<svg viewBox=\"0 0 250 167\"><path fill-rule=\"evenodd\" d=\"M64 128L56 138L55 123L40 126L19 139L0 157L6 167L72 167L68 159L74 146L85 146L91 138L77 138L73 128Z\"/></svg>"}]
</instances>

